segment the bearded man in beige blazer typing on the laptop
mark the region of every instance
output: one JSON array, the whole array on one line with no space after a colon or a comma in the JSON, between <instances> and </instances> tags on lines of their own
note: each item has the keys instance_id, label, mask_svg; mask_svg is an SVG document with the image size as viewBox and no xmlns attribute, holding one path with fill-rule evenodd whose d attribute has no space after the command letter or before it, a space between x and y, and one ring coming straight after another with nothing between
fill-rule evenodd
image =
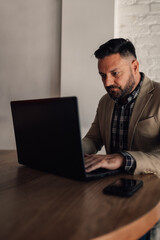
<instances>
[{"instance_id":1,"label":"bearded man in beige blazer typing on the laptop","mask_svg":"<svg viewBox=\"0 0 160 240\"><path fill-rule=\"evenodd\" d=\"M86 172L122 168L160 175L160 83L139 72L129 40L112 39L95 57L107 94L82 139ZM107 154L96 154L103 145Z\"/></svg>"}]
</instances>

